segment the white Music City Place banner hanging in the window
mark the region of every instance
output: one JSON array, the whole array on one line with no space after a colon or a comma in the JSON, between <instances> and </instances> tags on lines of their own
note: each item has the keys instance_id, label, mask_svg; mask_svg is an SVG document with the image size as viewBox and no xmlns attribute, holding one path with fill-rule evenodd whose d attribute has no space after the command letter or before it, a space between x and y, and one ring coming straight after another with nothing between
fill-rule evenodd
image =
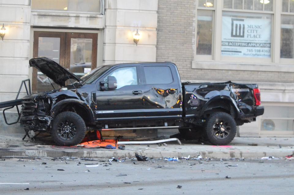
<instances>
[{"instance_id":1,"label":"white Music City Place banner hanging in the window","mask_svg":"<svg viewBox=\"0 0 294 195\"><path fill-rule=\"evenodd\" d=\"M271 15L224 12L221 55L271 57Z\"/></svg>"}]
</instances>

